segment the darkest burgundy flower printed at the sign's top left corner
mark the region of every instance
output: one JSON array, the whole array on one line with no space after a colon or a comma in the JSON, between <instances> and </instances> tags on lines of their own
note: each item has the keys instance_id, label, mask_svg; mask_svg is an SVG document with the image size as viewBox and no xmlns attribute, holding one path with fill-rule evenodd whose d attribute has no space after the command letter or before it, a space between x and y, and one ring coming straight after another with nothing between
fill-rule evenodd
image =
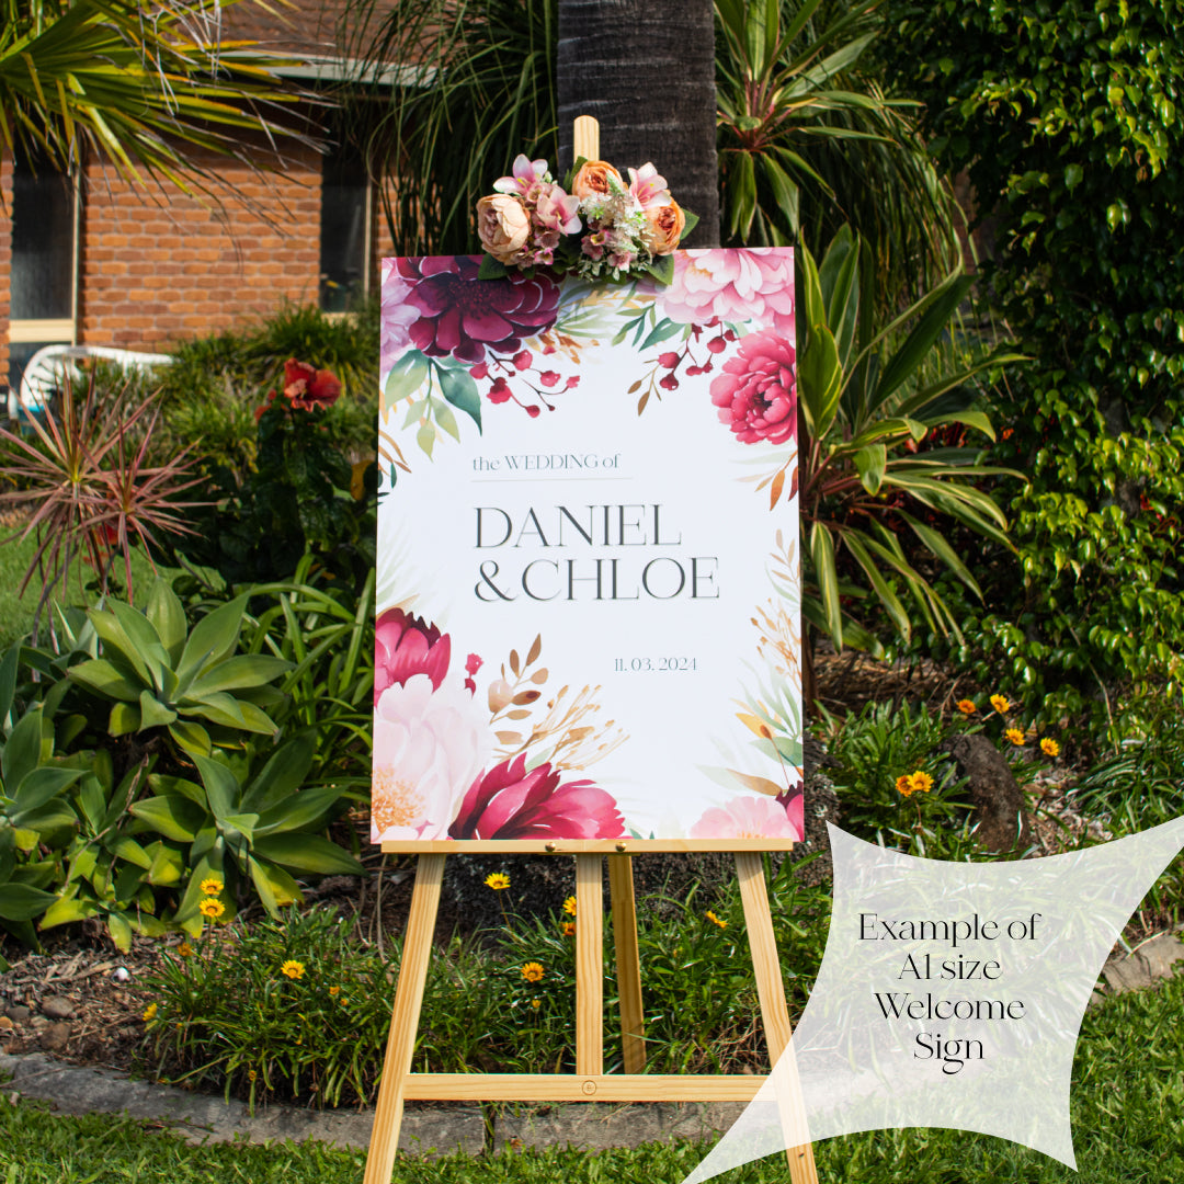
<instances>
[{"instance_id":1,"label":"darkest burgundy flower printed at the sign's top left corner","mask_svg":"<svg viewBox=\"0 0 1184 1184\"><path fill-rule=\"evenodd\" d=\"M430 358L481 362L487 349L515 354L523 337L555 323L559 285L549 276L478 279L478 266L480 258L466 255L399 259L404 298L419 314L407 333Z\"/></svg>"}]
</instances>

